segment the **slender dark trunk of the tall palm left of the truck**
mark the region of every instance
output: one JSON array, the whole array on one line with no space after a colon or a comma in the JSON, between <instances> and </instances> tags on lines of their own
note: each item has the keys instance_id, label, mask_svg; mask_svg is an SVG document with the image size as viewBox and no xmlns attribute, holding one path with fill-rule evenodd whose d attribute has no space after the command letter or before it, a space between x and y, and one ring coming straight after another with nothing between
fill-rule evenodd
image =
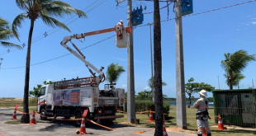
<instances>
[{"instance_id":1,"label":"slender dark trunk of the tall palm left of the truck","mask_svg":"<svg viewBox=\"0 0 256 136\"><path fill-rule=\"evenodd\" d=\"M26 51L26 72L25 72L25 86L23 96L23 112L29 113L28 109L28 95L29 95L29 82L30 82L30 65L31 65L31 40L34 29L34 21L31 19L31 28L28 35L27 51ZM30 115L24 114L21 116L21 123L29 123Z\"/></svg>"}]
</instances>

